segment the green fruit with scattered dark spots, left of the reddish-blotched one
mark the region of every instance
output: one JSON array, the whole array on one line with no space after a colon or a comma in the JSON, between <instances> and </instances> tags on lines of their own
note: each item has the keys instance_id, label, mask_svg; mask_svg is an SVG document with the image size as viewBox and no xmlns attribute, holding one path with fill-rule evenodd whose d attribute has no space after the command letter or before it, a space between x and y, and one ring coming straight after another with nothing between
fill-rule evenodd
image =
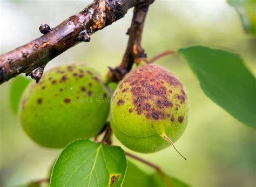
<instances>
[{"instance_id":1,"label":"green fruit with scattered dark spots, left of the reddish-blotched one","mask_svg":"<svg viewBox=\"0 0 256 187\"><path fill-rule=\"evenodd\" d=\"M102 130L109 115L107 88L99 74L85 65L64 65L31 82L19 105L25 132L38 144L63 148L77 138Z\"/></svg>"}]
</instances>

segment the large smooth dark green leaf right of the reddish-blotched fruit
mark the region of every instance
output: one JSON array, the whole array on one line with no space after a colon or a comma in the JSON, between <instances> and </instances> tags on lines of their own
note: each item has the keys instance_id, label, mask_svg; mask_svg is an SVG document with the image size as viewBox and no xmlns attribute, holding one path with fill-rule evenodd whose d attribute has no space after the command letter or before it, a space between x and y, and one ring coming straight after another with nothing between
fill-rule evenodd
<instances>
[{"instance_id":1,"label":"large smooth dark green leaf right of the reddish-blotched fruit","mask_svg":"<svg viewBox=\"0 0 256 187\"><path fill-rule=\"evenodd\" d=\"M178 50L205 94L247 126L256 129L256 82L242 59L230 51L192 46Z\"/></svg>"}]
</instances>

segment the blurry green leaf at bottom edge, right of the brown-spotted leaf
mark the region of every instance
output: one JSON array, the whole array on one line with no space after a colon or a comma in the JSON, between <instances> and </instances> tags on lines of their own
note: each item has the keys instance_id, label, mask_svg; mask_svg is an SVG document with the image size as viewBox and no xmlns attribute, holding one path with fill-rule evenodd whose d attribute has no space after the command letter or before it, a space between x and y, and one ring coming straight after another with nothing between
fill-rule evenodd
<instances>
[{"instance_id":1,"label":"blurry green leaf at bottom edge, right of the brown-spotted leaf","mask_svg":"<svg viewBox=\"0 0 256 187\"><path fill-rule=\"evenodd\" d=\"M122 186L188 187L187 184L177 180L176 178L166 176L160 172L154 172L152 175L146 174L130 161L128 161L127 171Z\"/></svg>"}]
</instances>

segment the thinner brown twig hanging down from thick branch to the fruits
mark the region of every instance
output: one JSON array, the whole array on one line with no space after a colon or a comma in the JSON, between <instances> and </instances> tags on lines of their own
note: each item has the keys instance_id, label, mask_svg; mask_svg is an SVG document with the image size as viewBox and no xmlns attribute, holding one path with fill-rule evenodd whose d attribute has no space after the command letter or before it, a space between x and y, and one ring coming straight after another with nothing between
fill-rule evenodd
<instances>
[{"instance_id":1,"label":"thinner brown twig hanging down from thick branch to the fruits","mask_svg":"<svg viewBox=\"0 0 256 187\"><path fill-rule=\"evenodd\" d=\"M122 63L116 68L109 67L108 77L110 81L118 82L124 75L131 71L134 63L146 60L146 54L142 47L142 33L149 6L154 0L138 3L133 12L132 24L127 34L130 36Z\"/></svg>"}]
</instances>

